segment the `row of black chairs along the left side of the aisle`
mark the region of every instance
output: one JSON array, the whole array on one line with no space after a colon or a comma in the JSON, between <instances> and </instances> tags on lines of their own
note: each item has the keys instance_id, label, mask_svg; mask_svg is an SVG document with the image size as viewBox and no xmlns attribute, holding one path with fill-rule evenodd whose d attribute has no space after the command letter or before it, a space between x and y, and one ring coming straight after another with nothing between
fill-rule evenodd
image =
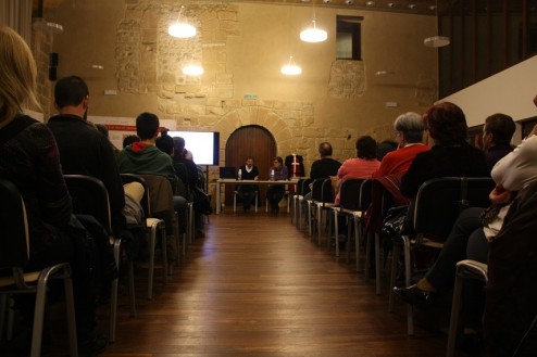
<instances>
[{"instance_id":1,"label":"row of black chairs along the left side of the aisle","mask_svg":"<svg viewBox=\"0 0 537 357\"><path fill-rule=\"evenodd\" d=\"M93 216L109 234L110 243L113 246L113 255L117 267L121 263L121 248L122 240L114 237L111 225L111 212L107 188L102 181L84 175L64 175L67 189L73 199L74 213L85 214ZM139 182L145 189L145 194L141 200L141 206L145 216L142 217L141 229L148 231L148 253L149 253L149 268L148 268L148 298L152 298L153 290L153 271L157 252L157 241L160 240L162 263L163 263L163 281L167 284L167 276L171 273L168 267L168 257L166 255L166 242L168 241L168 234L166 232L165 219L157 218L158 213L151 206L151 202L155 200L162 200L162 195L170 196L168 206L172 207L172 188L170 181L163 177L155 175L122 175L124 183ZM154 189L158 188L158 189ZM42 318L43 308L46 302L47 283L50 279L63 279L65 281L65 294L67 302L67 318L70 328L70 343L72 356L76 356L76 328L74 324L74 308L72 296L72 280L71 280L71 267L68 264L60 264L54 267L49 267L40 272L32 275L23 275L22 267L28 259L29 242L26 221L26 212L24 202L16 189L16 187L10 181L0 179L0 190L2 192L1 200L1 220L2 227L9 227L7 234L2 234L0 240L0 267L11 267L13 275L10 277L1 278L0 280L0 336L11 335L12 323L10 323L10 317L5 318L7 314L10 314L11 309L8 304L10 296L15 293L37 293L36 299L36 313L34 321L33 345L32 356L40 355L41 335L42 335ZM157 197L159 196L160 197ZM192 227L193 227L193 212L192 205L189 205L187 230L182 234L183 242L179 243L178 238L178 217L176 214L172 214L170 222L173 226L174 244L176 245L175 252L179 252L179 245L183 246L183 254L185 254L185 245L187 241L192 240ZM161 217L162 218L162 217ZM170 224L168 222L168 224ZM132 228L132 227L130 227ZM178 262L178 256L175 257ZM134 289L134 268L133 260L128 263L128 294L129 294L129 307L130 316L136 316L135 304L135 289ZM116 316L117 316L117 290L118 281L115 279L111 286L110 296L110 341L115 341L116 332ZM11 321L12 322L12 321ZM4 332L5 331L5 332Z\"/></svg>"}]
</instances>

